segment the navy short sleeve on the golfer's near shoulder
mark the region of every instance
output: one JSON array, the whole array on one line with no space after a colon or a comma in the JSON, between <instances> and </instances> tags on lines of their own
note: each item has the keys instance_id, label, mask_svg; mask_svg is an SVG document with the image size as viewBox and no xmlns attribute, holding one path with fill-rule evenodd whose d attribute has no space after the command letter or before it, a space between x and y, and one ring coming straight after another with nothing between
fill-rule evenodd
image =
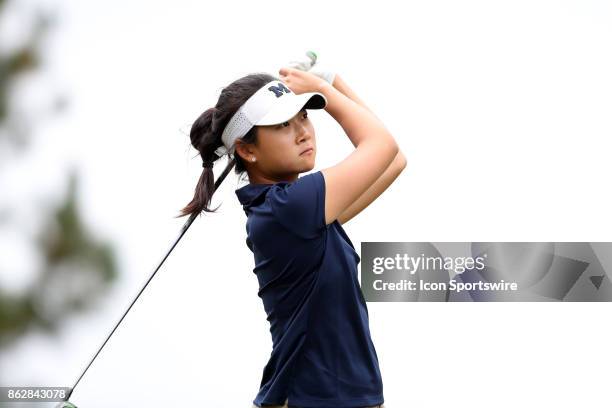
<instances>
[{"instance_id":1,"label":"navy short sleeve on the golfer's near shoulder","mask_svg":"<svg viewBox=\"0 0 612 408\"><path fill-rule=\"evenodd\" d=\"M276 220L304 239L321 235L325 228L325 178L321 171L293 183L274 185L267 199Z\"/></svg>"}]
</instances>

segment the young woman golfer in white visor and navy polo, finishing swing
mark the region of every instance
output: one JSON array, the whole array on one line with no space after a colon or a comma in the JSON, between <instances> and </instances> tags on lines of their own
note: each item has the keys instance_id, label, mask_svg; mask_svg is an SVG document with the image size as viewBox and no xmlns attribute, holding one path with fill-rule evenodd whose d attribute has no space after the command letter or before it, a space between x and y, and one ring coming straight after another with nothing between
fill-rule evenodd
<instances>
[{"instance_id":1,"label":"young woman golfer in white visor and navy polo, finishing swing","mask_svg":"<svg viewBox=\"0 0 612 408\"><path fill-rule=\"evenodd\" d=\"M213 162L228 154L250 184L237 189L270 322L273 349L254 407L383 407L378 356L357 279L359 255L342 224L374 201L405 167L398 145L336 75L281 68L223 88L190 138L204 171L183 215L208 208ZM315 166L309 109L325 109L355 150L335 166ZM226 173L225 173L226 174Z\"/></svg>"}]
</instances>

